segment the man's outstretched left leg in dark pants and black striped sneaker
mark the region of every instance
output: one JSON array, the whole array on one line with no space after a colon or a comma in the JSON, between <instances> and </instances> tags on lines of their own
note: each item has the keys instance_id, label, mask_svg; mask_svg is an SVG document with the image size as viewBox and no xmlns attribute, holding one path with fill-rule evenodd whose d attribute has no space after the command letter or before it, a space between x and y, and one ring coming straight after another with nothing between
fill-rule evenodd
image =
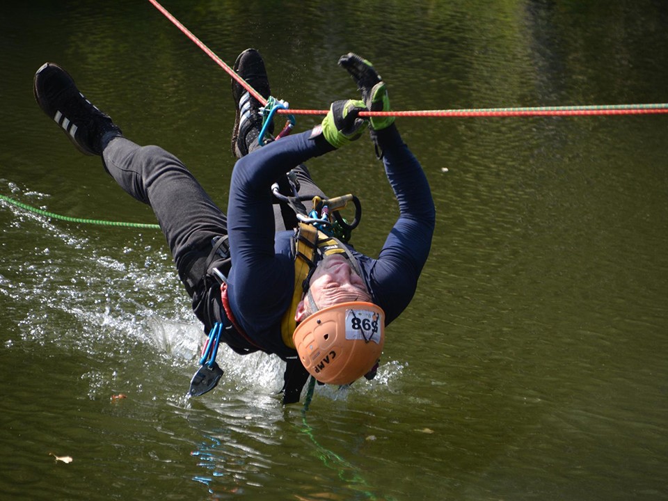
<instances>
[{"instance_id":1,"label":"man's outstretched left leg in dark pants and black striped sneaker","mask_svg":"<svg viewBox=\"0 0 668 501\"><path fill-rule=\"evenodd\" d=\"M214 237L227 233L225 215L202 186L172 154L123 138L120 128L86 100L60 66L42 65L35 73L33 93L42 111L79 151L101 155L118 184L152 206L184 280L198 254L211 248ZM194 294L193 287L189 292Z\"/></svg>"}]
</instances>

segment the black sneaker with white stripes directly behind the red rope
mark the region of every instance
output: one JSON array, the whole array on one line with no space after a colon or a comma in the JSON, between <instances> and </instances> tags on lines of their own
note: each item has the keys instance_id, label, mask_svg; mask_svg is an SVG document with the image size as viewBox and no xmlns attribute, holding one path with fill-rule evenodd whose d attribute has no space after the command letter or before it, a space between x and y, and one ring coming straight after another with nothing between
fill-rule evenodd
<instances>
[{"instance_id":1,"label":"black sneaker with white stripes directly behind the red rope","mask_svg":"<svg viewBox=\"0 0 668 501\"><path fill-rule=\"evenodd\" d=\"M234 71L265 99L271 95L264 61L255 49L246 49L239 54L237 61L234 62ZM252 151L257 147L257 137L260 136L262 129L262 113L260 112L262 104L234 79L232 80L232 97L237 110L232 131L232 154L241 158L248 154L249 150ZM273 122L267 131L269 134L273 133Z\"/></svg>"}]
</instances>

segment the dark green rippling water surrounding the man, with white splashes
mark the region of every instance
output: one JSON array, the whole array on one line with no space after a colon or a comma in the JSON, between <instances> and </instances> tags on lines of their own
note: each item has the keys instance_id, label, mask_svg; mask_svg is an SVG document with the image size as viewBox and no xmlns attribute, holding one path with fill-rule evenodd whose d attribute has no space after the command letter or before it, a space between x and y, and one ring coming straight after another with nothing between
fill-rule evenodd
<instances>
[{"instance_id":1,"label":"dark green rippling water surrounding the man, with white splashes","mask_svg":"<svg viewBox=\"0 0 668 501\"><path fill-rule=\"evenodd\" d=\"M230 64L260 49L293 108L356 96L351 50L395 109L668 102L658 1L165 6ZM154 222L34 104L54 61L225 205L228 76L148 1L13 2L0 33L1 194ZM668 499L667 120L397 120L434 248L379 378L317 389L305 418L262 356L225 352L221 385L184 397L201 329L161 234L0 202L0 498ZM396 207L369 141L311 166L363 200L356 245L376 253Z\"/></svg>"}]
</instances>

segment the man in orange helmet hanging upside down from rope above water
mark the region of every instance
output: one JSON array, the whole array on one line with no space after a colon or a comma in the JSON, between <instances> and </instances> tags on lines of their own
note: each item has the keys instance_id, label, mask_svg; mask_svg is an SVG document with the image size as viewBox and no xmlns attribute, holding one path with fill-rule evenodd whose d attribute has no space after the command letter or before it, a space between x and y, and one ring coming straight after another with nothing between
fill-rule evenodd
<instances>
[{"instance_id":1,"label":"man in orange helmet hanging upside down from rope above water","mask_svg":"<svg viewBox=\"0 0 668 501\"><path fill-rule=\"evenodd\" d=\"M376 374L385 326L413 298L434 233L427 178L401 141L394 118L358 116L390 110L384 82L355 54L342 56L339 64L356 81L362 100L333 102L314 129L270 138L262 146L262 105L232 82L237 110L232 152L239 160L227 215L173 154L125 138L61 67L45 63L34 79L35 99L70 141L84 154L101 156L122 189L152 207L209 345L221 341L237 353L265 351L285 360L286 404L299 401L309 374L337 385ZM234 70L269 97L257 51L242 52ZM294 186L302 200L317 196L326 203L303 163L356 140L367 126L399 202L399 218L376 259L333 237L327 223L320 230L300 223L305 218L277 205L272 194L275 184L279 193ZM193 395L213 388L222 374L213 351L202 357Z\"/></svg>"}]
</instances>

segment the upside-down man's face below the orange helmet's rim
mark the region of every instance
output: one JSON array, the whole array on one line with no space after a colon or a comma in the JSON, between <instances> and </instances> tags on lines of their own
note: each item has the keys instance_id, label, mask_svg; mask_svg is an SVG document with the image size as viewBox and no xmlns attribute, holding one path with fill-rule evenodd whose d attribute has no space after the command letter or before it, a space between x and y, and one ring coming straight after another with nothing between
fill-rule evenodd
<instances>
[{"instance_id":1,"label":"upside-down man's face below the orange helmet's rim","mask_svg":"<svg viewBox=\"0 0 668 501\"><path fill-rule=\"evenodd\" d=\"M310 291L319 308L346 301L371 301L362 277L340 254L326 256L313 272Z\"/></svg>"}]
</instances>

